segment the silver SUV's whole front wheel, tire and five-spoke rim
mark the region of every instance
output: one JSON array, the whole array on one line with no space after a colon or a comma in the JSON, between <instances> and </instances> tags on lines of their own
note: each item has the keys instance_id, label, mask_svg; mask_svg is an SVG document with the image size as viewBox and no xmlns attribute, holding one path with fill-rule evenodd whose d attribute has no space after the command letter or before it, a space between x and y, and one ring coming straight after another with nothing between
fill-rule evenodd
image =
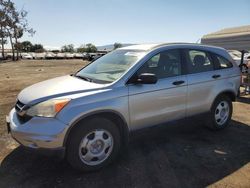
<instances>
[{"instance_id":1,"label":"silver SUV's whole front wheel, tire and five-spoke rim","mask_svg":"<svg viewBox=\"0 0 250 188\"><path fill-rule=\"evenodd\" d=\"M120 143L119 130L112 121L105 118L83 121L70 134L67 159L76 169L97 170L116 158Z\"/></svg>"}]
</instances>

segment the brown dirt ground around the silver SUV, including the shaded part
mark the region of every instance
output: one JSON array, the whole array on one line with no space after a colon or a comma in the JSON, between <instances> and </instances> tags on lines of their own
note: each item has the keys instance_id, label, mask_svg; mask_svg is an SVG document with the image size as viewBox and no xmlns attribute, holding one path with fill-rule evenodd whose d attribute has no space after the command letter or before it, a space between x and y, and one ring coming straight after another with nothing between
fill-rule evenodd
<instances>
[{"instance_id":1,"label":"brown dirt ground around the silver SUV, including the shaded part","mask_svg":"<svg viewBox=\"0 0 250 188\"><path fill-rule=\"evenodd\" d=\"M0 63L0 187L250 187L249 97L234 103L233 121L223 131L209 131L194 118L137 131L118 161L93 173L79 173L11 139L5 115L19 91L86 63Z\"/></svg>"}]
</instances>

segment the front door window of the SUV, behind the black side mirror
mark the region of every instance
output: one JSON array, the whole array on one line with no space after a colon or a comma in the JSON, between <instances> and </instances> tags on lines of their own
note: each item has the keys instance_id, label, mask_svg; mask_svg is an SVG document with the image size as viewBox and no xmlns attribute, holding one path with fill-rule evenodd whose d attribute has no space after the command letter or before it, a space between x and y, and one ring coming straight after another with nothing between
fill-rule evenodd
<instances>
[{"instance_id":1,"label":"front door window of the SUV, behind the black side mirror","mask_svg":"<svg viewBox=\"0 0 250 188\"><path fill-rule=\"evenodd\" d=\"M181 75L179 50L168 50L153 56L137 72L153 73L158 79Z\"/></svg>"}]
</instances>

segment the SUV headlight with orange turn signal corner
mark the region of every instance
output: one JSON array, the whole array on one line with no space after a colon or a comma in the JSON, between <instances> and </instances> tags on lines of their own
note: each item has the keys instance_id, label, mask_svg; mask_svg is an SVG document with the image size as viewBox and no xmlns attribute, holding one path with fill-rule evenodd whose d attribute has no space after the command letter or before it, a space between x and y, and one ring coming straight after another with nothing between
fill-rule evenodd
<instances>
[{"instance_id":1,"label":"SUV headlight with orange turn signal corner","mask_svg":"<svg viewBox=\"0 0 250 188\"><path fill-rule=\"evenodd\" d=\"M29 116L55 117L69 101L70 99L47 100L30 107L26 114Z\"/></svg>"}]
</instances>

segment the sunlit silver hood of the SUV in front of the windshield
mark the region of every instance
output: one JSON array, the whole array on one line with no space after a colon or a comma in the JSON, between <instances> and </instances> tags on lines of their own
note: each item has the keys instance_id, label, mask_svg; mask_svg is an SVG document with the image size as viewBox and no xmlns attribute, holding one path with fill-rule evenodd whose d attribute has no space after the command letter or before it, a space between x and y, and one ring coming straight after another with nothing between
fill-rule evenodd
<instances>
[{"instance_id":1,"label":"sunlit silver hood of the SUV in front of the windshield","mask_svg":"<svg viewBox=\"0 0 250 188\"><path fill-rule=\"evenodd\" d=\"M67 75L25 88L19 93L18 100L24 104L33 104L50 98L98 90L104 87L103 84L96 84Z\"/></svg>"}]
</instances>

